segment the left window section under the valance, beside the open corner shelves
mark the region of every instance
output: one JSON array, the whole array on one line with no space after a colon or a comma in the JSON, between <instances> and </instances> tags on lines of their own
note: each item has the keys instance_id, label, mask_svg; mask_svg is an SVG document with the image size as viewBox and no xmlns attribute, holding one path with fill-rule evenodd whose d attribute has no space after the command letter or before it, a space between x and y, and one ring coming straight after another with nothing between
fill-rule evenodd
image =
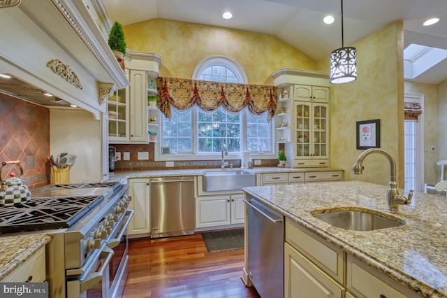
<instances>
[{"instance_id":1,"label":"left window section under the valance, beside the open corner shelves","mask_svg":"<svg viewBox=\"0 0 447 298\"><path fill-rule=\"evenodd\" d=\"M171 152L192 151L191 110L186 113L178 113L171 110L171 119L162 115L163 136L162 147L169 147Z\"/></svg>"}]
</instances>

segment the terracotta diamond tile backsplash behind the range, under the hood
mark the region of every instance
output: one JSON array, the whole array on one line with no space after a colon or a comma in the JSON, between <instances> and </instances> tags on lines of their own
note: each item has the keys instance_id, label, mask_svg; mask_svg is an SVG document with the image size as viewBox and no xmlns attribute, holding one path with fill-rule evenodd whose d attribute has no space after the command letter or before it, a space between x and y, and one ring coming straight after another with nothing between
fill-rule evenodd
<instances>
[{"instance_id":1,"label":"terracotta diamond tile backsplash behind the range, under the hood","mask_svg":"<svg viewBox=\"0 0 447 298\"><path fill-rule=\"evenodd\" d=\"M50 111L0 93L0 162L19 160L24 184L33 189L50 183L49 155ZM20 176L17 166L6 165L1 178L10 172Z\"/></svg>"}]
</instances>

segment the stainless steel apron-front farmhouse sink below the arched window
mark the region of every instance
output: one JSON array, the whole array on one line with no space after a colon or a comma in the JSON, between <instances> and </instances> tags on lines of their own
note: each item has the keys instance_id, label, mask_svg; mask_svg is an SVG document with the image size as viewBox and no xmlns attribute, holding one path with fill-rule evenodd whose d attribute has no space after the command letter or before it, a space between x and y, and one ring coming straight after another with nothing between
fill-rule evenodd
<instances>
[{"instance_id":1,"label":"stainless steel apron-front farmhouse sink below the arched window","mask_svg":"<svg viewBox=\"0 0 447 298\"><path fill-rule=\"evenodd\" d=\"M256 186L255 173L245 170L205 171L203 173L203 190L205 192L241 190L246 186Z\"/></svg>"}]
</instances>

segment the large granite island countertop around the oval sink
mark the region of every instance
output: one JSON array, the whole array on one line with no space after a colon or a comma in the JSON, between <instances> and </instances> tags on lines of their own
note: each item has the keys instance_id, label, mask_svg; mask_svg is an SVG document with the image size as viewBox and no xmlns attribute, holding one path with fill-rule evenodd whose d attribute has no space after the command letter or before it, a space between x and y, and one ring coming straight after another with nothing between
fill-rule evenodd
<instances>
[{"instance_id":1,"label":"large granite island countertop around the oval sink","mask_svg":"<svg viewBox=\"0 0 447 298\"><path fill-rule=\"evenodd\" d=\"M243 190L423 297L447 297L446 197L417 192L410 206L399 206L393 213L405 220L404 226L351 231L310 212L360 207L387 213L386 186L345 181Z\"/></svg>"}]
</instances>

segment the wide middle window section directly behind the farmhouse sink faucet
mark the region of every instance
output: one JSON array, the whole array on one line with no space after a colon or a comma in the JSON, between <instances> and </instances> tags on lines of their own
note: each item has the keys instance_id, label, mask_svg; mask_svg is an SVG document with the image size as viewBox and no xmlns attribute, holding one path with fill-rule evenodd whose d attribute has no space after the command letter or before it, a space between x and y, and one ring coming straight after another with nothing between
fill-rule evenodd
<instances>
[{"instance_id":1,"label":"wide middle window section directly behind the farmhouse sink faucet","mask_svg":"<svg viewBox=\"0 0 447 298\"><path fill-rule=\"evenodd\" d=\"M229 115L223 109L211 114L198 111L198 151L240 152L240 115Z\"/></svg>"}]
</instances>

